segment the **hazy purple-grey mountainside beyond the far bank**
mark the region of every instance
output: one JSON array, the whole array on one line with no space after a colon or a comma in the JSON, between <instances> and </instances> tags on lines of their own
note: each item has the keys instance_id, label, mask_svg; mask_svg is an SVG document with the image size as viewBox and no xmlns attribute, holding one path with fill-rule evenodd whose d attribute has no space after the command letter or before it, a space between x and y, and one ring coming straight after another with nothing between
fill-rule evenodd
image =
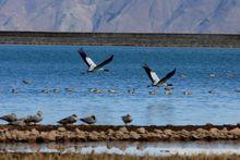
<instances>
[{"instance_id":1,"label":"hazy purple-grey mountainside beyond the far bank","mask_svg":"<svg viewBox=\"0 0 240 160\"><path fill-rule=\"evenodd\" d=\"M0 0L0 29L240 34L240 0Z\"/></svg>"}]
</instances>

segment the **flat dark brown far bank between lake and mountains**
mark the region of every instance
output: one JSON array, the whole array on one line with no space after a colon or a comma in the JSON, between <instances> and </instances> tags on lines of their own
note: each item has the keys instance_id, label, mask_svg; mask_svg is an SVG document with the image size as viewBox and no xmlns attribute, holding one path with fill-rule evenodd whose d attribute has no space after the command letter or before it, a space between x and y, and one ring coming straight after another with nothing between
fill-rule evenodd
<instances>
[{"instance_id":1,"label":"flat dark brown far bank between lake and mountains","mask_svg":"<svg viewBox=\"0 0 240 160\"><path fill-rule=\"evenodd\" d=\"M225 47L240 48L240 35L164 33L0 32L0 45Z\"/></svg>"}]
</instances>

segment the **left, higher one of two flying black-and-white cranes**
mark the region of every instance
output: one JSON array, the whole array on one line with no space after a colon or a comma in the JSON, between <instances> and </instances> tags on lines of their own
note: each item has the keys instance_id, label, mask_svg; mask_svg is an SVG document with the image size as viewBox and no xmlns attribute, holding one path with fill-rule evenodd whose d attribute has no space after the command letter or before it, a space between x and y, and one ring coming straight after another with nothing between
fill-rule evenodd
<instances>
[{"instance_id":1,"label":"left, higher one of two flying black-and-white cranes","mask_svg":"<svg viewBox=\"0 0 240 160\"><path fill-rule=\"evenodd\" d=\"M87 72L94 72L98 70L108 72L109 70L105 70L103 69L103 66L110 63L113 60L113 56L111 56L110 58L101 62L100 64L95 64L94 61L89 57L86 56L85 51L82 48L77 52L80 53L81 58L86 63L86 65L88 66Z\"/></svg>"}]
</instances>

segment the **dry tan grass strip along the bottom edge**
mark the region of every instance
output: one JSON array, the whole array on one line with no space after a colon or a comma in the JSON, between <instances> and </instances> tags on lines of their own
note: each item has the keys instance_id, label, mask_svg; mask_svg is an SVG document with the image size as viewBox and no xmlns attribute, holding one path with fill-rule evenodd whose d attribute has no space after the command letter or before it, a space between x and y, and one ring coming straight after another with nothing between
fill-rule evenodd
<instances>
[{"instance_id":1,"label":"dry tan grass strip along the bottom edge","mask_svg":"<svg viewBox=\"0 0 240 160\"><path fill-rule=\"evenodd\" d=\"M171 156L171 157L136 157L119 155L76 155L76 153L0 153L0 160L239 160L238 155L219 156Z\"/></svg>"}]
</instances>

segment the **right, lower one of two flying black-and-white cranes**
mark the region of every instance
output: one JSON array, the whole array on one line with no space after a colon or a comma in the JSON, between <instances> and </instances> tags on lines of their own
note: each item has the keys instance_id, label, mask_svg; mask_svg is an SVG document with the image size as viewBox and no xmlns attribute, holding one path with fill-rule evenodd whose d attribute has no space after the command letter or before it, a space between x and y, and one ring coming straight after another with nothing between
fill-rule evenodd
<instances>
[{"instance_id":1,"label":"right, lower one of two flying black-and-white cranes","mask_svg":"<svg viewBox=\"0 0 240 160\"><path fill-rule=\"evenodd\" d=\"M172 77L176 73L176 69L172 70L171 72L169 72L165 77L163 77L161 79L159 79L159 77L157 76L157 74L151 70L148 67L147 64L143 65L143 69L145 70L146 74L148 75L148 77L152 81L152 86L156 86L156 87L160 87L161 85L166 84L166 82Z\"/></svg>"}]
</instances>

